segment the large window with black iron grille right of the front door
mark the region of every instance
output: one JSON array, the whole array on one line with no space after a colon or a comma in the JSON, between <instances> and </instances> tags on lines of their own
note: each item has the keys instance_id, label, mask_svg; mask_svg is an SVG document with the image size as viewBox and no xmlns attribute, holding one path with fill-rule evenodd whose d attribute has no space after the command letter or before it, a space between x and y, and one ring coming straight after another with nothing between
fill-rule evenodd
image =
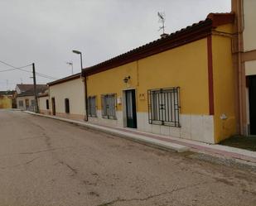
<instances>
[{"instance_id":1,"label":"large window with black iron grille right of the front door","mask_svg":"<svg viewBox=\"0 0 256 206\"><path fill-rule=\"evenodd\" d=\"M179 87L147 91L150 124L180 127Z\"/></svg>"}]
</instances>

